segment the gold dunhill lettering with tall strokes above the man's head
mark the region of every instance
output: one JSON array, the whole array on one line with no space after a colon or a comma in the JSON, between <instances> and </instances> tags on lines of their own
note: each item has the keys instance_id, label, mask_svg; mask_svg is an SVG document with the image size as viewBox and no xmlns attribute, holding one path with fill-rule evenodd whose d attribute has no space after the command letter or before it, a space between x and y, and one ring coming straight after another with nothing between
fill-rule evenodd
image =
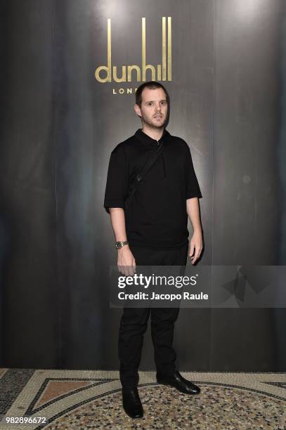
<instances>
[{"instance_id":1,"label":"gold dunhill lettering with tall strokes above the man's head","mask_svg":"<svg viewBox=\"0 0 286 430\"><path fill-rule=\"evenodd\" d=\"M95 77L98 82L112 82L112 79L115 82L131 82L134 74L136 76L137 82L145 82L146 70L151 71L150 80L152 81L171 81L171 17L168 16L168 34L166 32L166 17L162 17L162 64L157 65L157 77L155 66L151 64L146 64L145 18L142 18L142 65L141 67L138 65L123 65L121 77L118 77L117 66L111 65L111 20L110 18L108 18L108 65L102 65L97 67ZM101 71L106 73L105 77L100 77Z\"/></svg>"}]
</instances>

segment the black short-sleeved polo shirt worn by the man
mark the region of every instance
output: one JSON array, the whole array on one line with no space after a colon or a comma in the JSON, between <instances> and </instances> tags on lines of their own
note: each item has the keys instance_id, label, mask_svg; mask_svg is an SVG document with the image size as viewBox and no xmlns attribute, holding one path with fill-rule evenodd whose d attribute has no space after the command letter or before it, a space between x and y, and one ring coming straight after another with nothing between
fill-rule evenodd
<instances>
[{"instance_id":1,"label":"black short-sleeved polo shirt worn by the man","mask_svg":"<svg viewBox=\"0 0 286 430\"><path fill-rule=\"evenodd\" d=\"M174 248L188 242L186 200L202 194L188 144L166 129L159 141L138 129L112 150L104 207L124 208L129 186L157 145L163 145L163 151L125 212L126 234L130 245Z\"/></svg>"}]
</instances>

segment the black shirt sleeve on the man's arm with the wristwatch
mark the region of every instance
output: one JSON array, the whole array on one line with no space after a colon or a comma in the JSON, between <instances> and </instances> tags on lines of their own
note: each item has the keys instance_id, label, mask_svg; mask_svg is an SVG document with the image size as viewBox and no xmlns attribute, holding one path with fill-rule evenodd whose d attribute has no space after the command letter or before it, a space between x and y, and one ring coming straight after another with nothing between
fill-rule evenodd
<instances>
[{"instance_id":1,"label":"black shirt sleeve on the man's arm with the wristwatch","mask_svg":"<svg viewBox=\"0 0 286 430\"><path fill-rule=\"evenodd\" d=\"M122 146L111 152L108 164L108 178L105 187L105 210L110 213L110 207L122 207L128 193L128 166L126 154Z\"/></svg>"}]
</instances>

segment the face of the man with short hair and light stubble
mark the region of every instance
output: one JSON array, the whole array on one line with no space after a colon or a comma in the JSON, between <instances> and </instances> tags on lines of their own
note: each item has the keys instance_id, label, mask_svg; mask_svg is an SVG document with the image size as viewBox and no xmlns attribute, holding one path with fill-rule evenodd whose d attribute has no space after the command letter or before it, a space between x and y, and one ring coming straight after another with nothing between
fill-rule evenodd
<instances>
[{"instance_id":1,"label":"face of the man with short hair and light stubble","mask_svg":"<svg viewBox=\"0 0 286 430\"><path fill-rule=\"evenodd\" d=\"M167 97L162 88L145 88L142 92L141 107L134 106L135 112L142 118L143 124L153 128L162 128L167 119Z\"/></svg>"}]
</instances>

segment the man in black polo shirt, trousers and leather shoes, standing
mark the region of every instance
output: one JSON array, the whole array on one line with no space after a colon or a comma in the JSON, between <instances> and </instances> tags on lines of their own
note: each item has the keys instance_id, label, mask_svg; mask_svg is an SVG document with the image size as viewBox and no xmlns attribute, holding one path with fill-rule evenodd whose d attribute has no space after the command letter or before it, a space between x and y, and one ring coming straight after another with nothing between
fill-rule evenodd
<instances>
[{"instance_id":1,"label":"man in black polo shirt, trousers and leather shoes, standing","mask_svg":"<svg viewBox=\"0 0 286 430\"><path fill-rule=\"evenodd\" d=\"M190 148L165 129L169 119L167 90L159 82L141 84L134 109L143 128L112 151L104 202L115 233L117 266L124 275L132 275L136 264L186 266L188 254L194 264L202 252L198 202L202 195ZM161 154L124 210L131 183L147 160L154 157L158 145L163 145ZM188 216L193 225L189 253ZM137 390L138 366L150 314L157 382L174 386L183 393L200 393L200 388L183 378L175 367L172 341L178 311L178 308L124 308L118 346L123 407L130 417L143 417Z\"/></svg>"}]
</instances>

